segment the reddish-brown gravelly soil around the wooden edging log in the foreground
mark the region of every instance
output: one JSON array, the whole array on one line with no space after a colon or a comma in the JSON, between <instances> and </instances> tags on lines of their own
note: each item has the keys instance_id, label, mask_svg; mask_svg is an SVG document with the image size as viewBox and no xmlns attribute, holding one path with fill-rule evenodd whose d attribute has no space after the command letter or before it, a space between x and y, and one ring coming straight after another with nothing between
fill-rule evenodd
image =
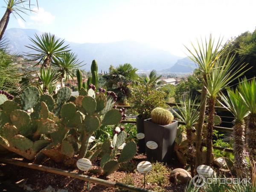
<instances>
[{"instance_id":1,"label":"reddish-brown gravelly soil around the wooden edging log in the foreground","mask_svg":"<svg viewBox=\"0 0 256 192\"><path fill-rule=\"evenodd\" d=\"M142 161L145 160L146 156L144 154L138 154L135 156L133 163L135 166ZM23 159L18 159L23 160ZM23 160L24 162L28 162L27 160ZM93 162L92 169L98 168L99 161ZM45 160L42 165L49 166L53 168L68 170L70 172L78 173L78 169L74 168L67 168L61 164L55 163L50 159ZM180 165L172 164L168 165L170 170L173 170L175 168L180 168ZM38 171L35 169L29 169L25 167L10 165L10 164L0 164L0 171L2 171L2 176L0 174L0 190L1 186L10 186L10 189L5 190L5 192L23 192L24 190L20 189L13 189L13 187L17 186L23 186L23 184L26 184L27 186L30 186L33 190L32 191L40 191L42 189L46 189L48 186L52 186L57 191L58 189L67 189L68 192L86 192L87 191L87 183L83 180L75 179L72 177L62 176L62 175L56 175L48 172ZM140 174L136 170L134 172L125 172L125 171L116 171L113 174L109 175L107 178L103 177L102 175L94 175L93 173L84 172L84 175L89 175L92 177L97 177L109 181L116 181L116 182L122 182L123 178L126 175L131 175L131 178L133 178L134 186L143 187L143 174ZM169 175L166 175L166 177L169 177ZM169 179L168 179L169 180ZM6 184L7 183L7 184ZM15 184L18 183L18 184ZM3 185L4 184L4 185ZM115 191L121 191L119 189L114 188L107 188L105 186L95 184L95 183L89 183L89 191L90 192L115 192ZM128 184L128 183L127 183ZM12 187L12 188L11 188ZM155 189L157 187L156 183L147 183L145 184L146 189ZM8 187L7 187L8 188ZM165 192L182 192L184 191L185 185L184 184L178 184L175 185L173 183L167 183L166 185L161 187L161 191ZM3 190L3 188L2 188Z\"/></svg>"}]
</instances>

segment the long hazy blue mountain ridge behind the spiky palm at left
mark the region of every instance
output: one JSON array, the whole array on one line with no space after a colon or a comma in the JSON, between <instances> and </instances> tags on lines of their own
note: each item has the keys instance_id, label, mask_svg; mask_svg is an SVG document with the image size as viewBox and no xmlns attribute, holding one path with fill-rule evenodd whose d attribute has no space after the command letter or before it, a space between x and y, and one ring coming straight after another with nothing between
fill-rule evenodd
<instances>
[{"instance_id":1,"label":"long hazy blue mountain ridge behind the spiky palm at left","mask_svg":"<svg viewBox=\"0 0 256 192\"><path fill-rule=\"evenodd\" d=\"M5 37L10 43L10 51L12 53L23 53L31 51L25 45L30 44L29 37L34 37L34 34L42 34L35 29L8 29L5 32ZM85 70L90 69L90 64L93 59L98 61L99 70L108 70L113 64L130 63L139 70L163 70L167 67L172 67L180 57L172 55L168 51L163 51L150 47L147 44L138 43L135 41L118 41L113 43L84 43L78 44L67 42L70 48L75 52L79 60L87 63Z\"/></svg>"}]
</instances>

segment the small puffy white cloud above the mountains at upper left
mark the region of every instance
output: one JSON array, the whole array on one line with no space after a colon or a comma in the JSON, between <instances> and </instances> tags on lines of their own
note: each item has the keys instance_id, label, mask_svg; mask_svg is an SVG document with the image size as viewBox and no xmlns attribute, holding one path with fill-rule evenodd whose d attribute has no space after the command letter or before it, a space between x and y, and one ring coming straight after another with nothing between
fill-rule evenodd
<instances>
[{"instance_id":1,"label":"small puffy white cloud above the mountains at upper left","mask_svg":"<svg viewBox=\"0 0 256 192\"><path fill-rule=\"evenodd\" d=\"M34 13L30 16L30 19L35 21L35 24L50 24L55 20L55 16L52 15L50 12L45 11L43 8L39 7L39 9L34 8Z\"/></svg>"}]
</instances>

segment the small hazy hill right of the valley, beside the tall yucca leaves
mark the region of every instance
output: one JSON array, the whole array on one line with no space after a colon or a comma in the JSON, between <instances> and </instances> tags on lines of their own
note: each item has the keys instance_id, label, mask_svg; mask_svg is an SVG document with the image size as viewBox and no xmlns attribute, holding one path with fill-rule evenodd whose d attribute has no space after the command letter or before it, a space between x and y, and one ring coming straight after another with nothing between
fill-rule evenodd
<instances>
[{"instance_id":1,"label":"small hazy hill right of the valley, beside the tall yucca leaves","mask_svg":"<svg viewBox=\"0 0 256 192\"><path fill-rule=\"evenodd\" d=\"M188 57L179 59L172 67L163 70L168 73L190 73L197 68L196 64Z\"/></svg>"}]
</instances>

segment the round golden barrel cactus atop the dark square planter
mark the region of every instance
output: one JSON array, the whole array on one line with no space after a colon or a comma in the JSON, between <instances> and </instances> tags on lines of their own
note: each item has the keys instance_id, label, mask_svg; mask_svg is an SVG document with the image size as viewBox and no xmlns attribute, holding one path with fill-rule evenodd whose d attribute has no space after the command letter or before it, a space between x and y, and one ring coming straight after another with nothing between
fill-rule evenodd
<instances>
[{"instance_id":1,"label":"round golden barrel cactus atop the dark square planter","mask_svg":"<svg viewBox=\"0 0 256 192\"><path fill-rule=\"evenodd\" d=\"M158 125L169 125L173 119L173 114L167 109L155 108L151 111L151 121Z\"/></svg>"}]
</instances>

